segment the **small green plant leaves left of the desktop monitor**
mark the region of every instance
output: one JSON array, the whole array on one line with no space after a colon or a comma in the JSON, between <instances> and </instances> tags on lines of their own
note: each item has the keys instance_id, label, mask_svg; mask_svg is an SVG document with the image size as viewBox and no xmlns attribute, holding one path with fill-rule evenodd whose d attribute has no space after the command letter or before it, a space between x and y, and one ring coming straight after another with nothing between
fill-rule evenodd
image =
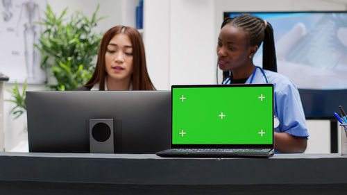
<instances>
[{"instance_id":1,"label":"small green plant leaves left of the desktop monitor","mask_svg":"<svg viewBox=\"0 0 347 195\"><path fill-rule=\"evenodd\" d=\"M5 101L15 103L15 107L10 110L10 114L15 115L15 119L17 119L26 112L26 81L23 85L22 93L18 89L17 81L15 81L15 86L12 90L6 91L10 92L12 99L6 99Z\"/></svg>"}]
</instances>

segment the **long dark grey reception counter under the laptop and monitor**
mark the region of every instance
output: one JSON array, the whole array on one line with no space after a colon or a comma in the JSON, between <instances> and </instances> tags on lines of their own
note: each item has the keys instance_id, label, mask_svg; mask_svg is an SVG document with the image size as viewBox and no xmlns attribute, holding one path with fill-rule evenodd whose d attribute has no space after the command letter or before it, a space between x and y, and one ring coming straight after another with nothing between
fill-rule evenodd
<instances>
[{"instance_id":1,"label":"long dark grey reception counter under the laptop and monitor","mask_svg":"<svg viewBox=\"0 0 347 195\"><path fill-rule=\"evenodd\" d=\"M346 194L347 157L0 153L0 194Z\"/></svg>"}]
</instances>

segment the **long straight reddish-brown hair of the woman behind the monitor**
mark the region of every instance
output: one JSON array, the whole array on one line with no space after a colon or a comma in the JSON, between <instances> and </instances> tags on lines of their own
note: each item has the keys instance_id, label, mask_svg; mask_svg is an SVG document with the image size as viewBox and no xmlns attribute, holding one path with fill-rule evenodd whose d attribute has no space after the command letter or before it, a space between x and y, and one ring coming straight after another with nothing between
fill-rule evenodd
<instances>
[{"instance_id":1,"label":"long straight reddish-brown hair of the woman behind the monitor","mask_svg":"<svg viewBox=\"0 0 347 195\"><path fill-rule=\"evenodd\" d=\"M105 90L105 53L110 40L119 33L128 35L133 45L133 75L131 82L133 90L155 90L146 68L146 56L144 54L144 43L139 32L130 26L115 26L110 28L101 40L98 60L92 78L85 84L85 87L91 88L99 82L99 90Z\"/></svg>"}]
</instances>

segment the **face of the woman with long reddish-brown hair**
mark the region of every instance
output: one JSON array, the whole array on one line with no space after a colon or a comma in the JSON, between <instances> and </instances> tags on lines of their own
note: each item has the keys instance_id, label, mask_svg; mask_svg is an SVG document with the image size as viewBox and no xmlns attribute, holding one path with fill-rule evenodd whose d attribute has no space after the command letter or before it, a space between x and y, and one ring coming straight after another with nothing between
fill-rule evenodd
<instances>
[{"instance_id":1,"label":"face of the woman with long reddish-brown hair","mask_svg":"<svg viewBox=\"0 0 347 195\"><path fill-rule=\"evenodd\" d=\"M110 78L123 80L133 74L133 45L128 35L119 33L112 37L105 53L105 69Z\"/></svg>"}]
</instances>

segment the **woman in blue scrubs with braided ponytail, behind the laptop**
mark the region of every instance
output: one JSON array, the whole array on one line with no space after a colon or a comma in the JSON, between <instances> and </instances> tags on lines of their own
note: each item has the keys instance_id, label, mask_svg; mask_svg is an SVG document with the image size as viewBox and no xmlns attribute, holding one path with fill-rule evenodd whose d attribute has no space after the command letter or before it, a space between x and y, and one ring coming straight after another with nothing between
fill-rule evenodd
<instances>
[{"instance_id":1,"label":"woman in blue scrubs with braided ponytail, behind the laptop","mask_svg":"<svg viewBox=\"0 0 347 195\"><path fill-rule=\"evenodd\" d=\"M253 64L253 56L262 42L264 69ZM276 73L271 24L251 15L225 19L218 37L217 55L223 84L273 83L275 149L280 153L303 153L308 137L303 105L296 85Z\"/></svg>"}]
</instances>

